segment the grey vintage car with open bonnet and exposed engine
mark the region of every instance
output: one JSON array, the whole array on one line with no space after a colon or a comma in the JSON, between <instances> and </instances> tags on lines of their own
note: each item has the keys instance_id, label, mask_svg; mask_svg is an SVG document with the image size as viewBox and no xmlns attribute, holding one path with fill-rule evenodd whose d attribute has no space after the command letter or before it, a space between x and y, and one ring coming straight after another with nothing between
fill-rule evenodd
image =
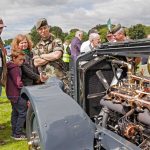
<instances>
[{"instance_id":1,"label":"grey vintage car with open bonnet and exposed engine","mask_svg":"<svg viewBox=\"0 0 150 150\"><path fill-rule=\"evenodd\" d=\"M150 150L150 40L78 57L70 95L51 78L25 87L31 150ZM145 61L145 62L144 62Z\"/></svg>"}]
</instances>

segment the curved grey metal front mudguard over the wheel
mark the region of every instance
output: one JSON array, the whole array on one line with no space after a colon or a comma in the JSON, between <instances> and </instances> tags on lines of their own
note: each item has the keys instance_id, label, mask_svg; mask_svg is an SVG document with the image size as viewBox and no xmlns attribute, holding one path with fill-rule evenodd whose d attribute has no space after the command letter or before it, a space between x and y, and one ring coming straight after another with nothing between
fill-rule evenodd
<instances>
[{"instance_id":1,"label":"curved grey metal front mudguard over the wheel","mask_svg":"<svg viewBox=\"0 0 150 150\"><path fill-rule=\"evenodd\" d=\"M42 149L92 150L95 125L59 85L54 80L22 89L33 106Z\"/></svg>"}]
</instances>

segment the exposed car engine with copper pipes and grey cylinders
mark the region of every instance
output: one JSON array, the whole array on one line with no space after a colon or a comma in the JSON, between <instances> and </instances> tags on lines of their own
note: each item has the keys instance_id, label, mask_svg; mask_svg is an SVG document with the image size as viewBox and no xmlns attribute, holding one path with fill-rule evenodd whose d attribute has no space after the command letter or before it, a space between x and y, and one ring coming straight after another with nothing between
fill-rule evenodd
<instances>
[{"instance_id":1,"label":"exposed car engine with copper pipes and grey cylinders","mask_svg":"<svg viewBox=\"0 0 150 150\"><path fill-rule=\"evenodd\" d=\"M99 125L150 150L150 78L136 75L131 63L113 59L111 64L118 68L100 101ZM122 67L127 68L127 77L121 78Z\"/></svg>"}]
</instances>

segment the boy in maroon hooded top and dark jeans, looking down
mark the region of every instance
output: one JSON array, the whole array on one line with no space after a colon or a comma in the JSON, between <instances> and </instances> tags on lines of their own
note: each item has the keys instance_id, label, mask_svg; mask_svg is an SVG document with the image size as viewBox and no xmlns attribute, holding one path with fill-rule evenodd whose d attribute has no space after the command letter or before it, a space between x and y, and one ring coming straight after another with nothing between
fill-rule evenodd
<instances>
[{"instance_id":1,"label":"boy in maroon hooded top and dark jeans, looking down","mask_svg":"<svg viewBox=\"0 0 150 150\"><path fill-rule=\"evenodd\" d=\"M7 83L6 95L12 105L11 125L12 137L15 140L26 139L23 133L24 122L26 120L27 101L20 97L20 91L23 87L21 81L21 68L24 62L25 54L21 51L12 53L12 61L7 63Z\"/></svg>"}]
</instances>

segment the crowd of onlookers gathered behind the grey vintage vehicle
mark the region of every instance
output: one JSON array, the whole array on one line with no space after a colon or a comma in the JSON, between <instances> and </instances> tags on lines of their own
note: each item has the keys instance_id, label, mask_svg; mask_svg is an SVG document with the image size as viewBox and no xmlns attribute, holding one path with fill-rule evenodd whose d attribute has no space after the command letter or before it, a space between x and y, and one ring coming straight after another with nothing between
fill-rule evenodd
<instances>
[{"instance_id":1,"label":"crowd of onlookers gathered behind the grey vintage vehicle","mask_svg":"<svg viewBox=\"0 0 150 150\"><path fill-rule=\"evenodd\" d=\"M6 95L11 102L12 138L26 139L24 123L30 101L21 97L23 86L44 83L50 77L57 77L64 83L64 91L68 90L69 63L77 57L100 46L101 37L96 29L88 33L89 39L82 43L83 31L76 31L72 41L55 38L50 32L50 26L45 18L36 23L36 30L41 39L33 48L32 41L27 35L18 34L11 43L11 61L5 61L5 49L0 38L0 90L4 86ZM6 27L0 19L0 34ZM107 33L108 42L128 40L125 30L117 25Z\"/></svg>"}]
</instances>

